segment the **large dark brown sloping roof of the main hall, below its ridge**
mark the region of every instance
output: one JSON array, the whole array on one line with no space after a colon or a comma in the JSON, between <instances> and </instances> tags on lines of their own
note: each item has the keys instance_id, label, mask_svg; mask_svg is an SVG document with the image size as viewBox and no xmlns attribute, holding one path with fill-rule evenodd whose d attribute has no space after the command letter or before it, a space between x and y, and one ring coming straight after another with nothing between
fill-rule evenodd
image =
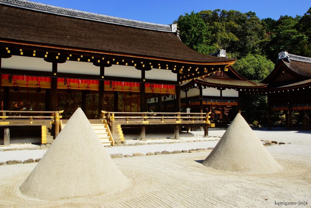
<instances>
[{"instance_id":1,"label":"large dark brown sloping roof of the main hall, below its ridge","mask_svg":"<svg viewBox=\"0 0 311 208\"><path fill-rule=\"evenodd\" d=\"M146 30L0 6L0 40L30 42L189 63L232 63L235 59L193 51L172 32Z\"/></svg>"}]
</instances>

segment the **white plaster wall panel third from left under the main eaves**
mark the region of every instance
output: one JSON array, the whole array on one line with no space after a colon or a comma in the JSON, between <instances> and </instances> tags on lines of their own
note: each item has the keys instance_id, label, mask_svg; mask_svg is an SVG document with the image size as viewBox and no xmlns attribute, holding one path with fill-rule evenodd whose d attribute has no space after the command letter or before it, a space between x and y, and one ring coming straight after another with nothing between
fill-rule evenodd
<instances>
[{"instance_id":1,"label":"white plaster wall panel third from left under the main eaves","mask_svg":"<svg viewBox=\"0 0 311 208\"><path fill-rule=\"evenodd\" d=\"M105 67L105 76L142 78L142 71L135 69L134 66L112 65Z\"/></svg>"}]
</instances>

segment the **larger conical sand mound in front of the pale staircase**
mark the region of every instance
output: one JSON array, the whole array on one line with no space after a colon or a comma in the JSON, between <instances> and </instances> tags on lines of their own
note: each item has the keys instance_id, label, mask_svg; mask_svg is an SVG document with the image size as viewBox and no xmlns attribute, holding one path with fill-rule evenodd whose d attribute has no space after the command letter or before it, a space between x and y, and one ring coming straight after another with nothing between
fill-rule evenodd
<instances>
[{"instance_id":1,"label":"larger conical sand mound in front of the pale staircase","mask_svg":"<svg viewBox=\"0 0 311 208\"><path fill-rule=\"evenodd\" d=\"M114 164L79 108L20 186L21 193L44 200L109 193L128 179Z\"/></svg>"}]
</instances>

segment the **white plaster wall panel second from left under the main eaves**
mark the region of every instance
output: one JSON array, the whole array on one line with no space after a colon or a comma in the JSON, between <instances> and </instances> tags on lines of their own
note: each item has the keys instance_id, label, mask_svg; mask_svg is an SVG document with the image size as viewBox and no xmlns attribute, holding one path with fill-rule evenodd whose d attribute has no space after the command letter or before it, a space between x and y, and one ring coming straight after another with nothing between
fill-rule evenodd
<instances>
[{"instance_id":1,"label":"white plaster wall panel second from left under the main eaves","mask_svg":"<svg viewBox=\"0 0 311 208\"><path fill-rule=\"evenodd\" d=\"M93 65L93 63L91 62L66 61L63 64L57 64L57 72L84 75L100 75L100 67Z\"/></svg>"}]
</instances>

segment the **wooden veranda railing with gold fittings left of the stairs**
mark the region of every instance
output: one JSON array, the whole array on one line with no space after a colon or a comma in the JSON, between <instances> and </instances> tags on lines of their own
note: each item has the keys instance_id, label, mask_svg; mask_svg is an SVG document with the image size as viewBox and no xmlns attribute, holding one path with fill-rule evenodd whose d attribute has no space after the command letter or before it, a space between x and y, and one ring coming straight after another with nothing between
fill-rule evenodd
<instances>
[{"instance_id":1,"label":"wooden veranda railing with gold fittings left of the stairs","mask_svg":"<svg viewBox=\"0 0 311 208\"><path fill-rule=\"evenodd\" d=\"M60 115L64 111L7 111L2 110L2 116L0 118L0 126L28 126L28 125L49 125L54 124L55 126L55 138L59 134L59 121L62 116ZM13 114L13 115L12 115ZM21 115L23 114L23 115ZM49 114L49 116L42 116L38 114ZM5 129L8 132L9 139L9 128Z\"/></svg>"}]
</instances>

